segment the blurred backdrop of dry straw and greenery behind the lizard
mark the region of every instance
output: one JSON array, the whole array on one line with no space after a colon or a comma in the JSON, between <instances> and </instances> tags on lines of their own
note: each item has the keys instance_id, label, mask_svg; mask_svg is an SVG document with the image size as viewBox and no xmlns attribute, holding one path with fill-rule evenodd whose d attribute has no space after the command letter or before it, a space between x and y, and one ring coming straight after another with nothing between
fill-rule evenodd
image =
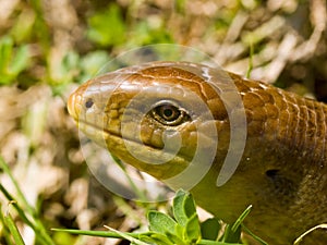
<instances>
[{"instance_id":1,"label":"blurred backdrop of dry straw and greenery behind the lizard","mask_svg":"<svg viewBox=\"0 0 327 245\"><path fill-rule=\"evenodd\" d=\"M88 172L65 108L70 93L124 51L179 44L228 71L327 101L326 24L326 0L0 0L1 158L48 230L142 229L149 204L112 195ZM10 209L35 244L8 207L3 189L19 204L20 195L7 171L0 181L2 213ZM62 245L124 244L49 234ZM0 224L0 244L8 241Z\"/></svg>"}]
</instances>

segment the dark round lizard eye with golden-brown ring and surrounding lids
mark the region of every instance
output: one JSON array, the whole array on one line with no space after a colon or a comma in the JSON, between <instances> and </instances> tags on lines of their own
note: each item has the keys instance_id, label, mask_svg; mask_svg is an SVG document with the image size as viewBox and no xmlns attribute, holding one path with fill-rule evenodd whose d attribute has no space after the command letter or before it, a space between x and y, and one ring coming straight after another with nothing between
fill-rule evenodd
<instances>
[{"instance_id":1,"label":"dark round lizard eye with golden-brown ring and surrounding lids","mask_svg":"<svg viewBox=\"0 0 327 245\"><path fill-rule=\"evenodd\" d=\"M183 109L174 106L169 101L164 101L156 106L152 110L152 115L158 122L170 126L179 125L190 119L190 117Z\"/></svg>"}]
</instances>

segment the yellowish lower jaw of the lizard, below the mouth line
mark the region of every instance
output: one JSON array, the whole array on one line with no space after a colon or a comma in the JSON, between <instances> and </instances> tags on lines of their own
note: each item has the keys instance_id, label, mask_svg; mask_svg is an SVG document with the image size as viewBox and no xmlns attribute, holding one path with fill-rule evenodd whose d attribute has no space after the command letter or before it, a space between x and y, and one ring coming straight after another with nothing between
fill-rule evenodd
<instances>
[{"instance_id":1,"label":"yellowish lower jaw of the lizard, below the mouth line","mask_svg":"<svg viewBox=\"0 0 327 245\"><path fill-rule=\"evenodd\" d=\"M190 157L181 152L162 151L133 138L122 138L119 134L104 131L89 123L80 121L78 124L80 130L88 138L107 148L114 157L165 182L173 189L191 188L209 171L207 166L203 166L203 159L199 160L194 156L190 160ZM207 154L203 152L204 155Z\"/></svg>"}]
</instances>

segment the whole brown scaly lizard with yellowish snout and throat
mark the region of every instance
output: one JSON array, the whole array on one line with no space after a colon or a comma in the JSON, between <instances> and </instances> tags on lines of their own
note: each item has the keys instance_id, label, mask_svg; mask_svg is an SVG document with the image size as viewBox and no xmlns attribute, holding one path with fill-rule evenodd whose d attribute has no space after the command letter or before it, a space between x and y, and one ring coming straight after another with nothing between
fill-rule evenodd
<instances>
[{"instance_id":1,"label":"whole brown scaly lizard with yellowish snout and throat","mask_svg":"<svg viewBox=\"0 0 327 245\"><path fill-rule=\"evenodd\" d=\"M69 111L89 138L172 188L192 187L222 220L253 205L245 223L269 244L291 244L327 222L324 103L199 64L154 62L90 79L71 95ZM244 147L232 132L246 136ZM230 152L240 152L237 169L218 186ZM178 175L192 160L195 170ZM303 244L327 244L326 232Z\"/></svg>"}]
</instances>

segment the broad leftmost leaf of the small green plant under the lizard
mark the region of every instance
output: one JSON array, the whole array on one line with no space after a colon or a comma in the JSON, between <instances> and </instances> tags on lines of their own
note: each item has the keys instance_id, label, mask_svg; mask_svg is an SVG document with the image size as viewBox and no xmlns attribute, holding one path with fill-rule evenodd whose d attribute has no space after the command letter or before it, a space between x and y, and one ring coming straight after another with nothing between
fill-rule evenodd
<instances>
[{"instance_id":1,"label":"broad leftmost leaf of the small green plant under the lizard","mask_svg":"<svg viewBox=\"0 0 327 245\"><path fill-rule=\"evenodd\" d=\"M175 221L169 216L158 212L149 211L147 215L149 221L149 230L165 234L174 231Z\"/></svg>"}]
</instances>

